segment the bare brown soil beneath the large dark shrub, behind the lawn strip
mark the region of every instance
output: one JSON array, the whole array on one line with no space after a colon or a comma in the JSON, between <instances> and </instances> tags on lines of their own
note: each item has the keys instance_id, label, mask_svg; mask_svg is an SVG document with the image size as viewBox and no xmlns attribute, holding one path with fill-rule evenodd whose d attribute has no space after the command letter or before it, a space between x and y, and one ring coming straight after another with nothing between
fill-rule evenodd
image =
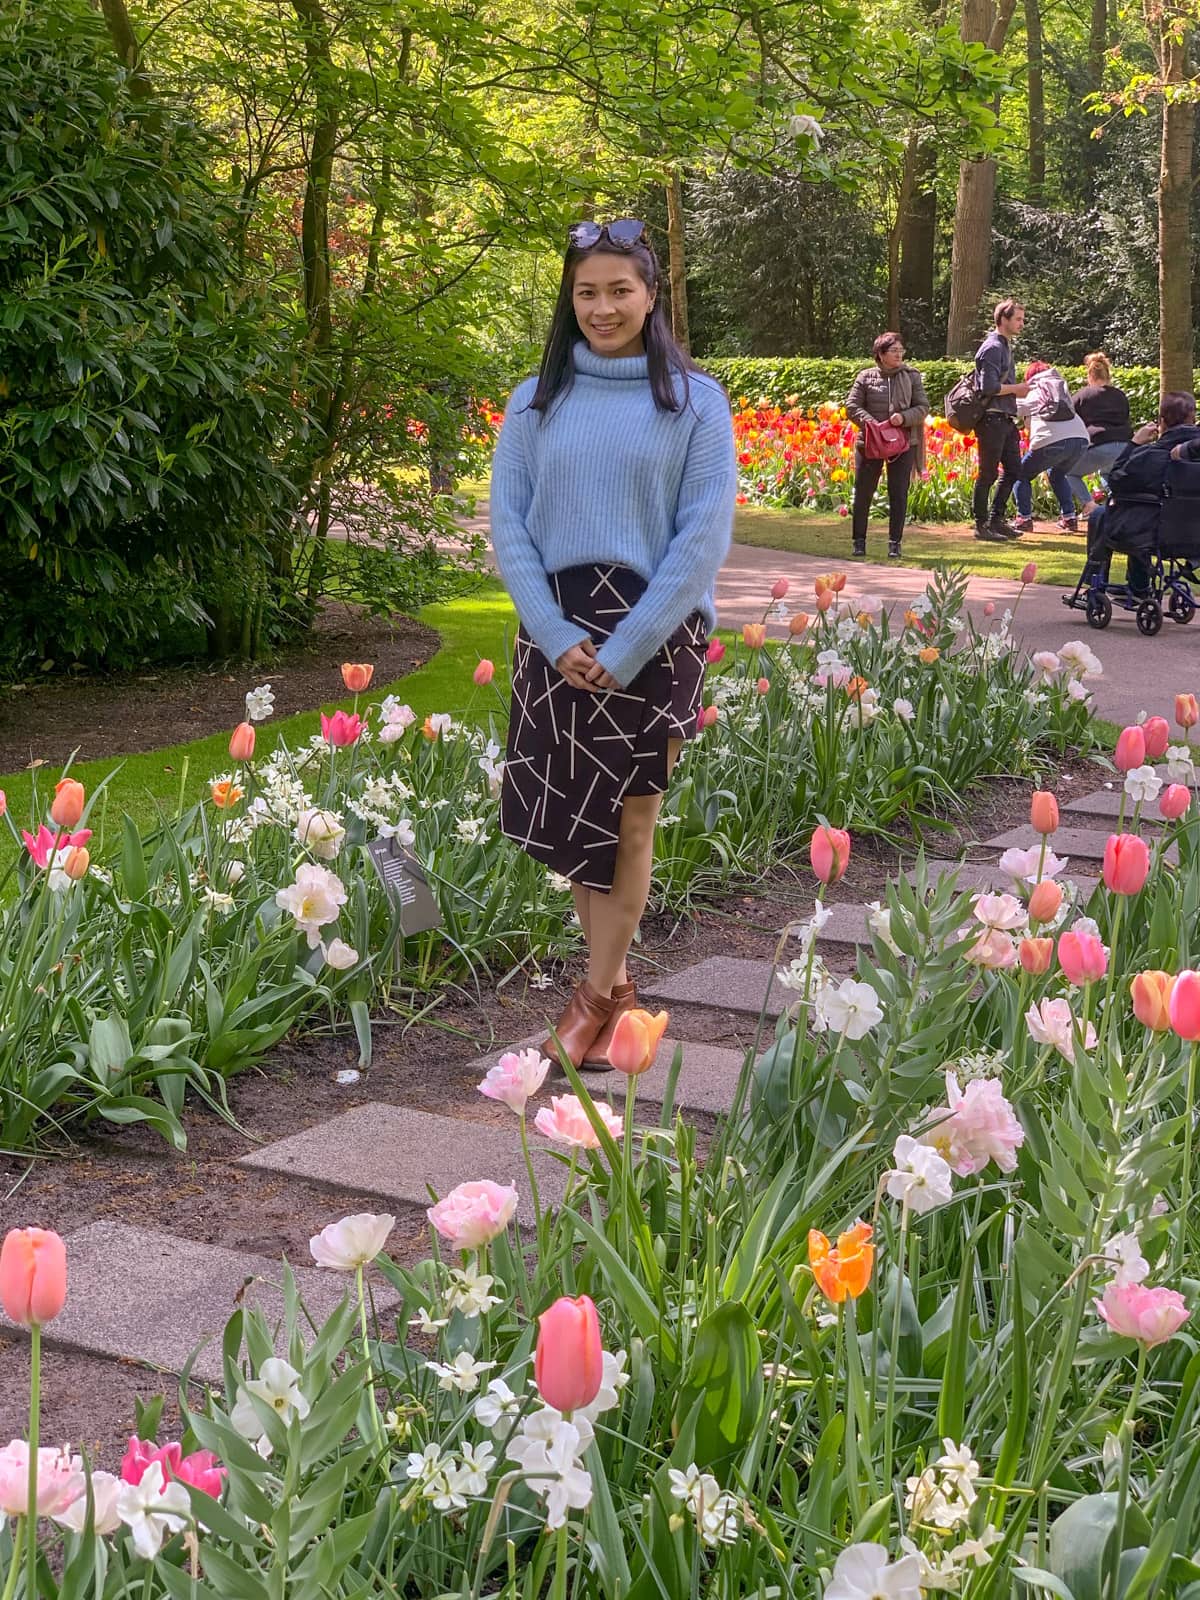
<instances>
[{"instance_id":1,"label":"bare brown soil beneath the large dark shrub, behind the lawn strip","mask_svg":"<svg viewBox=\"0 0 1200 1600\"><path fill-rule=\"evenodd\" d=\"M90 762L222 733L243 720L246 690L256 683L270 683L277 717L314 710L344 694L342 661L370 661L374 682L392 683L437 648L434 629L413 618L373 618L326 602L309 638L251 666L166 666L10 685L0 698L0 773L38 762L61 766L72 752Z\"/></svg>"}]
</instances>

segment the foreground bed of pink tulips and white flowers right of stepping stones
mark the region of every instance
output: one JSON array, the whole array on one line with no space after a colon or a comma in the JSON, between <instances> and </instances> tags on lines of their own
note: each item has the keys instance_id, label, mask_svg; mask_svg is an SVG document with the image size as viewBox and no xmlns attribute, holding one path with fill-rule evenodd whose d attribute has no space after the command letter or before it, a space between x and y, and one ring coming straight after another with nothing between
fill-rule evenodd
<instances>
[{"instance_id":1,"label":"foreground bed of pink tulips and white flowers right of stepping stones","mask_svg":"<svg viewBox=\"0 0 1200 1600\"><path fill-rule=\"evenodd\" d=\"M1195 726L1190 696L1178 720ZM413 1270L381 1254L390 1216L331 1222L312 1256L346 1275L341 1309L306 1344L285 1275L278 1346L238 1310L224 1394L181 1440L90 1482L67 1451L0 1451L5 1600L26 1570L24 1594L114 1600L1184 1594L1192 754L1162 718L1128 730L1086 902L1045 792L1010 890L888 885L853 978L822 968L818 902L781 941L794 1003L704 1160L669 1106L638 1114L666 1016L618 1030L618 1110L570 1074L531 1115L546 1062L504 1058L480 1091L526 1147L562 1147L565 1203L539 1203L530 1160L482 1173L430 1206ZM835 882L853 837L808 845ZM0 1298L35 1350L67 1269L54 1235L5 1242ZM403 1298L395 1330L368 1270Z\"/></svg>"}]
</instances>

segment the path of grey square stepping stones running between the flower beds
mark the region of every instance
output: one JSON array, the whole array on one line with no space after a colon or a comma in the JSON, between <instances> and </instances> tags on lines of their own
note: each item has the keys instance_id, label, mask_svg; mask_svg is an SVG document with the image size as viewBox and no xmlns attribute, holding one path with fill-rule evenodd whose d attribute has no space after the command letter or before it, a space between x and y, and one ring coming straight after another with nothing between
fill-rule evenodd
<instances>
[{"instance_id":1,"label":"path of grey square stepping stones running between the flower beds","mask_svg":"<svg viewBox=\"0 0 1200 1600\"><path fill-rule=\"evenodd\" d=\"M1094 888L1104 854L1104 842L1120 806L1117 789L1101 789L1077 800L1064 802L1069 821L1053 837L1056 854L1074 858L1083 870L1067 875L1086 894ZM1149 824L1147 818L1147 824ZM976 854L989 859L968 864L931 859L926 875L933 882L946 872L958 874L963 890L1000 888L1005 877L997 862L1011 845L1038 842L1027 827L997 834ZM909 870L912 877L912 870ZM834 915L822 930L827 946L845 947L853 960L856 946L867 938L866 906L835 904ZM709 1118L731 1107L746 1070L741 1051L714 1046L706 1038L712 1011L730 1013L744 1022L750 1038L763 1013L768 1024L790 998L776 981L765 960L709 957L683 971L651 979L642 986L645 1003L672 1011L672 1037L664 1040L659 1059L638 1083L638 1104L659 1106L667 1093L677 1048L682 1064L675 1083L674 1104L682 1115L701 1117L701 1131ZM506 1048L538 1043L538 1035L522 1038ZM482 1077L501 1051L472 1062ZM624 1099L624 1078L614 1074L592 1075L589 1086L597 1098L606 1096L616 1109ZM539 1104L550 1094L566 1093L568 1085L557 1070L547 1077ZM536 1107L531 1107L531 1115ZM656 1120L658 1112L650 1114ZM638 1118L642 1120L642 1118ZM562 1200L565 1163L562 1154L531 1133L534 1163L542 1198ZM493 1178L526 1187L525 1165L517 1120L502 1125L482 1122L470 1114L442 1117L426 1110L394 1104L366 1104L342 1115L277 1139L242 1157L240 1165L282 1181L302 1179L330 1190L330 1216L339 1216L339 1192L376 1195L381 1210L408 1210L413 1224L430 1197L442 1195L454 1184L474 1178ZM219 1198L216 1200L219 1205ZM530 1211L525 1210L528 1219ZM46 1328L50 1342L86 1350L114 1360L133 1360L179 1371L202 1341L208 1341L192 1371L210 1382L221 1379L219 1333L237 1304L245 1298L259 1304L269 1318L278 1318L280 1262L238 1250L202 1245L158 1229L130 1227L120 1222L94 1222L67 1238L70 1262L70 1296L62 1317ZM328 1315L347 1290L341 1274L298 1264L296 1278L317 1320ZM373 1275L376 1307L382 1312L397 1304L395 1293Z\"/></svg>"}]
</instances>

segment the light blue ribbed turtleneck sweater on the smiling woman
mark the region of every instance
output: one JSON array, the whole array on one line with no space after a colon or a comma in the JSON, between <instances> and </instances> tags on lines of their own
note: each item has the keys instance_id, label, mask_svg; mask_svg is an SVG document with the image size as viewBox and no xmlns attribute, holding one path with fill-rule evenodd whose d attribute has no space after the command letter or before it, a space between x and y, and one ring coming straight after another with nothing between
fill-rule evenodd
<instances>
[{"instance_id":1,"label":"light blue ribbed turtleneck sweater on the smiling woman","mask_svg":"<svg viewBox=\"0 0 1200 1600\"><path fill-rule=\"evenodd\" d=\"M491 466L491 542L501 578L547 661L587 638L554 598L549 574L614 562L646 590L598 648L622 686L699 610L730 547L738 464L730 402L688 373L682 411L659 411L645 355L574 346L574 384L544 413L526 410L536 378L514 389ZM677 379L677 389L682 386Z\"/></svg>"}]
</instances>

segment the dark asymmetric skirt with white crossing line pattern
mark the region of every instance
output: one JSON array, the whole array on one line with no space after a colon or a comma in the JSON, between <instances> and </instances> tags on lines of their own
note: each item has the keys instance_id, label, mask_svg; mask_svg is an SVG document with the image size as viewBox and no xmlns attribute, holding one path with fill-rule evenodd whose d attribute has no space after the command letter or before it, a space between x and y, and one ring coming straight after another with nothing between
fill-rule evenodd
<instances>
[{"instance_id":1,"label":"dark asymmetric skirt with white crossing line pattern","mask_svg":"<svg viewBox=\"0 0 1200 1600\"><path fill-rule=\"evenodd\" d=\"M600 646L646 584L627 566L550 578L563 616ZM667 741L691 739L704 694L699 611L624 690L576 690L522 627L501 787L501 832L582 888L611 890L626 795L666 794Z\"/></svg>"}]
</instances>

